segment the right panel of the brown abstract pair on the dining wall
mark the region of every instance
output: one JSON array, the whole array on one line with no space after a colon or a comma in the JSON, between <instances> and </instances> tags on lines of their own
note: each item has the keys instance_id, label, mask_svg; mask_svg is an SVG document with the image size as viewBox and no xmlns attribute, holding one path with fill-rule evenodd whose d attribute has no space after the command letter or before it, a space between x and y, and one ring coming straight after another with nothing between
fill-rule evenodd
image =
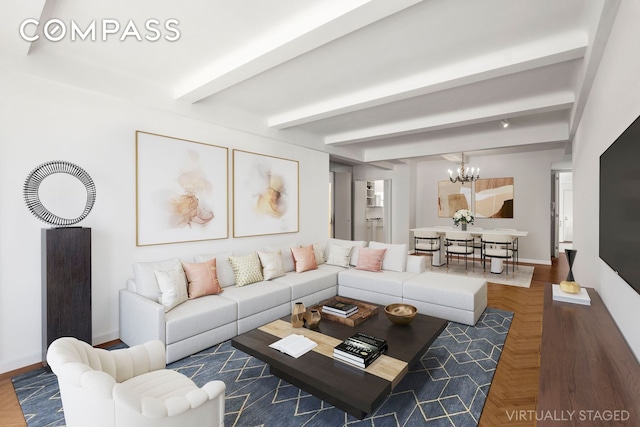
<instances>
[{"instance_id":1,"label":"right panel of the brown abstract pair on the dining wall","mask_svg":"<svg viewBox=\"0 0 640 427\"><path fill-rule=\"evenodd\" d=\"M476 218L513 218L513 177L476 181Z\"/></svg>"}]
</instances>

